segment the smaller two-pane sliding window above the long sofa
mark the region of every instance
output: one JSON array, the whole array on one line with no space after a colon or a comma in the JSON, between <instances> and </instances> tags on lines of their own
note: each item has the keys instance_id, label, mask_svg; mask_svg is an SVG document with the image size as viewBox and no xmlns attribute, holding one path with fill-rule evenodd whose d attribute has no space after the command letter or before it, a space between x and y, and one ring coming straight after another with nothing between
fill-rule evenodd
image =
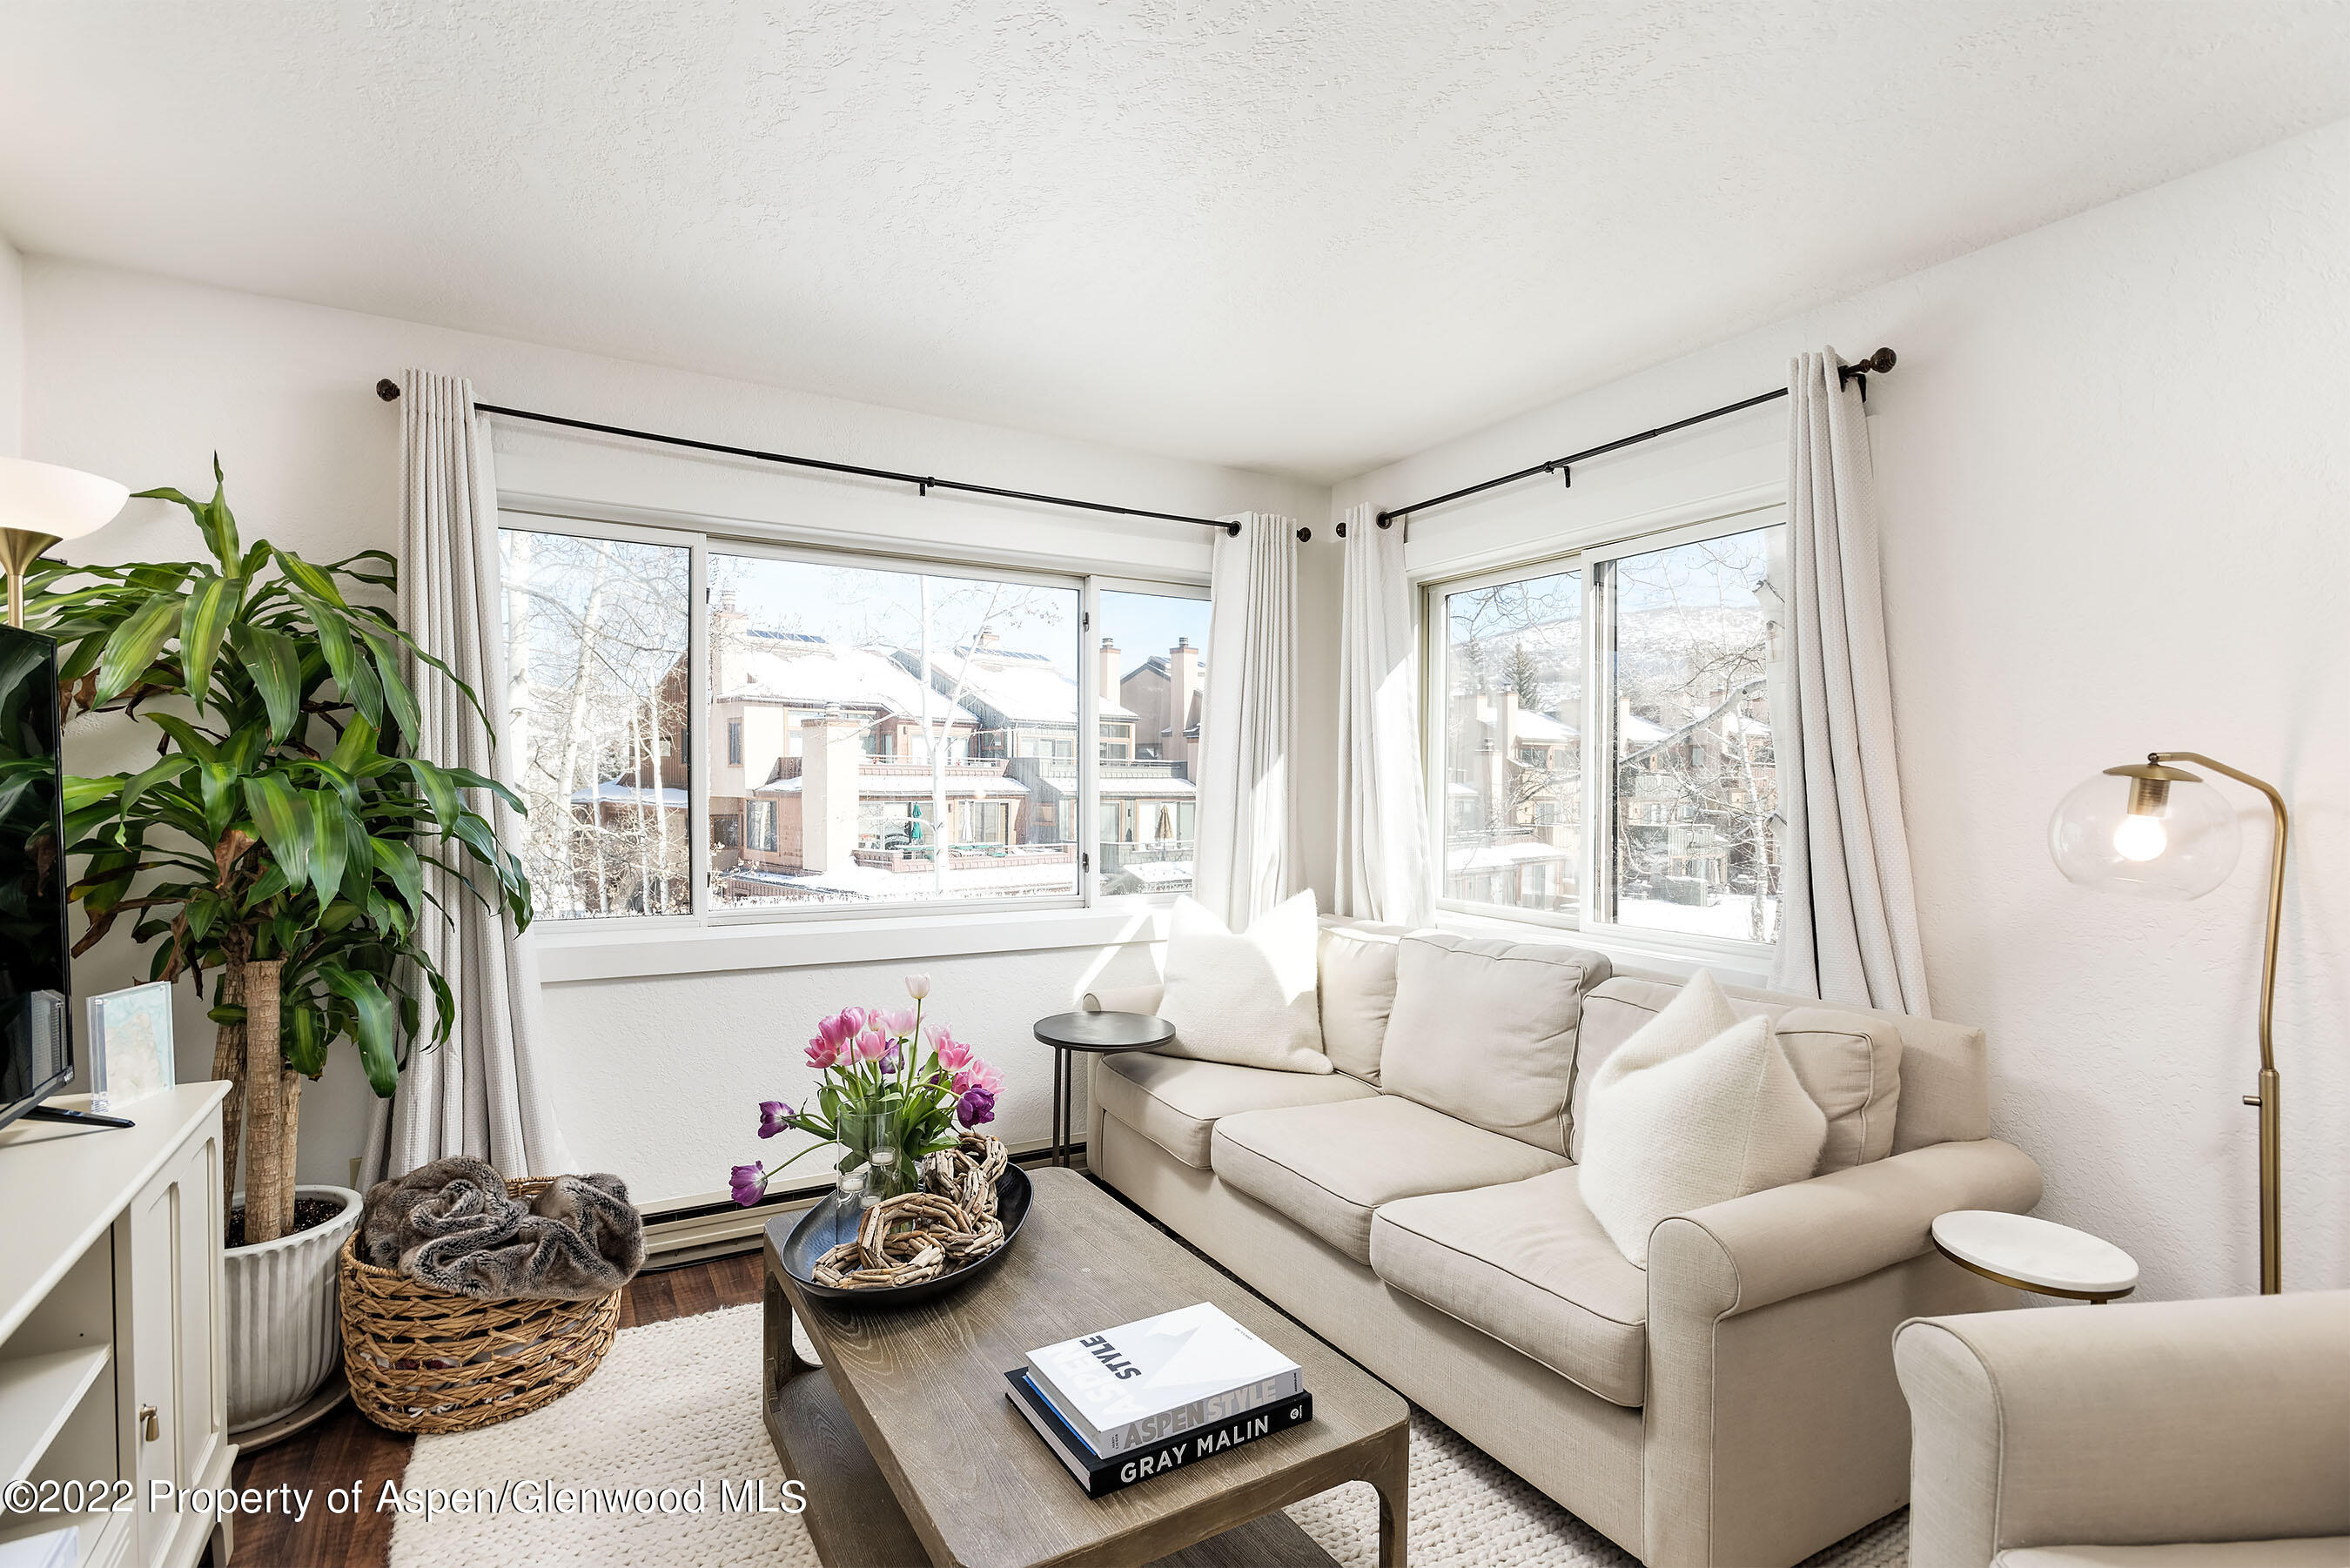
<instances>
[{"instance_id":1,"label":"smaller two-pane sliding window above the long sofa","mask_svg":"<svg viewBox=\"0 0 2350 1568\"><path fill-rule=\"evenodd\" d=\"M1426 590L1441 905L1777 940L1784 534L1746 515Z\"/></svg>"}]
</instances>

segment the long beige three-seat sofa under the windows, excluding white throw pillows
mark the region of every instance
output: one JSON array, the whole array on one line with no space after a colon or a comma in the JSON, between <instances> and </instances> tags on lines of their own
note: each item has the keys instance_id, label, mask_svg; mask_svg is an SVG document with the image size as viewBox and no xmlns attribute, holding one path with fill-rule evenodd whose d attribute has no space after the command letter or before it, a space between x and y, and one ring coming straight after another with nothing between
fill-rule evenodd
<instances>
[{"instance_id":1,"label":"long beige three-seat sofa under the windows, excluding white throw pillows","mask_svg":"<svg viewBox=\"0 0 2350 1568\"><path fill-rule=\"evenodd\" d=\"M1795 1563L1908 1497L1894 1326L2016 1300L1934 1215L2028 1211L2040 1171L1988 1135L1981 1030L1732 990L1852 1046L1805 1086L1861 1164L1664 1220L1643 1272L1582 1204L1574 1117L1673 990L1325 922L1340 1070L1095 1058L1090 1168L1652 1568Z\"/></svg>"}]
</instances>

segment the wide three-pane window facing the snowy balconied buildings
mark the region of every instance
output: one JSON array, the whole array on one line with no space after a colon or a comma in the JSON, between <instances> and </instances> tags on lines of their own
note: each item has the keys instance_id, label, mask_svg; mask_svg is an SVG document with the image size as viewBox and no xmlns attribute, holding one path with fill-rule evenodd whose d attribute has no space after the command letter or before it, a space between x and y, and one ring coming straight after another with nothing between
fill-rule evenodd
<instances>
[{"instance_id":1,"label":"wide three-pane window facing the snowy balconied buildings","mask_svg":"<svg viewBox=\"0 0 2350 1568\"><path fill-rule=\"evenodd\" d=\"M1201 588L522 515L501 550L545 917L1191 886Z\"/></svg>"}]
</instances>

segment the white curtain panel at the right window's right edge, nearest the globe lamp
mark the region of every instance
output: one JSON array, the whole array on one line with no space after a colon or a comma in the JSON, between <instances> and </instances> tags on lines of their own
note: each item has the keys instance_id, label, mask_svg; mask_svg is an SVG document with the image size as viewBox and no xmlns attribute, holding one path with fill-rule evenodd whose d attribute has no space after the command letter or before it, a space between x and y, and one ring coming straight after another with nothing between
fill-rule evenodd
<instances>
[{"instance_id":1,"label":"white curtain panel at the right window's right edge, nearest the globe lamp","mask_svg":"<svg viewBox=\"0 0 2350 1568\"><path fill-rule=\"evenodd\" d=\"M1847 1006L1927 1013L1885 670L1878 489L1861 390L1840 367L1833 350L1788 364L1795 722L1772 715L1786 811L1772 983Z\"/></svg>"}]
</instances>

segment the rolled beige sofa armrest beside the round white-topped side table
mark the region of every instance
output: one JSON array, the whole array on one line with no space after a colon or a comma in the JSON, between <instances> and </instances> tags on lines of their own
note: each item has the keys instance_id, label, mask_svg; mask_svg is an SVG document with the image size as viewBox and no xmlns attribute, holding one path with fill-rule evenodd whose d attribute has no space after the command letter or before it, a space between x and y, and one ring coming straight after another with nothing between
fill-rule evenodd
<instances>
[{"instance_id":1,"label":"rolled beige sofa armrest beside the round white-topped side table","mask_svg":"<svg viewBox=\"0 0 2350 1568\"><path fill-rule=\"evenodd\" d=\"M1875 1274L1932 1248L1953 1208L2026 1213L2040 1166L1998 1138L1936 1143L1661 1220L1647 1244L1650 1314L1730 1316Z\"/></svg>"}]
</instances>

